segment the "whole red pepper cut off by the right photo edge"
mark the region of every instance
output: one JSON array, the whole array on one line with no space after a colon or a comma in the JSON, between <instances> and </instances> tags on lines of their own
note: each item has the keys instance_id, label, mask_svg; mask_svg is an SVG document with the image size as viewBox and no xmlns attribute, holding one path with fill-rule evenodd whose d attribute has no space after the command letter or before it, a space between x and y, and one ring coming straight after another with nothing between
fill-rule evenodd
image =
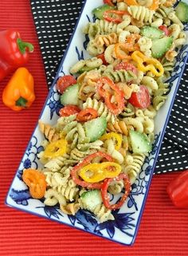
<instances>
[{"instance_id":1,"label":"whole red pepper cut off by the right photo edge","mask_svg":"<svg viewBox=\"0 0 188 256\"><path fill-rule=\"evenodd\" d=\"M188 170L172 180L166 191L175 207L188 208Z\"/></svg>"}]
</instances>

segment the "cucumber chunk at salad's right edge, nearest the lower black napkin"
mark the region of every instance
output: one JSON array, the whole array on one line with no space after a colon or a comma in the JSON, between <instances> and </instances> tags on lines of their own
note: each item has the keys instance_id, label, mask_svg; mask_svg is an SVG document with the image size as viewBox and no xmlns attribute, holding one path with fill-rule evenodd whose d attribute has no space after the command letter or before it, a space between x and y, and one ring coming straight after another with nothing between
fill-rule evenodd
<instances>
[{"instance_id":1,"label":"cucumber chunk at salad's right edge, nearest the lower black napkin","mask_svg":"<svg viewBox=\"0 0 188 256\"><path fill-rule=\"evenodd\" d=\"M151 152L151 143L145 133L135 132L131 130L129 132L129 135L131 139L131 147L133 153Z\"/></svg>"}]
</instances>

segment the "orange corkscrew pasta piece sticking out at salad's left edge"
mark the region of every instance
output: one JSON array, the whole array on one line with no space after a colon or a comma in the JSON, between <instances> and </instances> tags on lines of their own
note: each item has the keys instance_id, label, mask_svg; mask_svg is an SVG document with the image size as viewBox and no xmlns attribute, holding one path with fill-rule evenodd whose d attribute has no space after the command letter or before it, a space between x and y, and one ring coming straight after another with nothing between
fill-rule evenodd
<instances>
[{"instance_id":1,"label":"orange corkscrew pasta piece sticking out at salad's left edge","mask_svg":"<svg viewBox=\"0 0 188 256\"><path fill-rule=\"evenodd\" d=\"M40 131L45 135L45 138L49 140L49 142L57 141L60 139L60 135L57 132L56 128L53 128L49 124L43 123L41 120L38 121L38 125Z\"/></svg>"}]
</instances>

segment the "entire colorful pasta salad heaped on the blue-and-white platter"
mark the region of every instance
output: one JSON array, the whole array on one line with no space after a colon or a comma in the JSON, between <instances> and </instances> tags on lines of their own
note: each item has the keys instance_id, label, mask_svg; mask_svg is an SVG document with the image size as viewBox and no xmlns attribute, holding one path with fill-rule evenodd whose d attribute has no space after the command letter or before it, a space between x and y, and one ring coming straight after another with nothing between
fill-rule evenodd
<instances>
[{"instance_id":1,"label":"entire colorful pasta salad heaped on the blue-and-white platter","mask_svg":"<svg viewBox=\"0 0 188 256\"><path fill-rule=\"evenodd\" d=\"M68 215L85 209L100 223L114 219L151 152L166 80L186 42L188 6L175 3L104 0L92 10L95 22L83 28L91 57L57 80L57 124L38 122L43 167L23 170L34 199Z\"/></svg>"}]
</instances>

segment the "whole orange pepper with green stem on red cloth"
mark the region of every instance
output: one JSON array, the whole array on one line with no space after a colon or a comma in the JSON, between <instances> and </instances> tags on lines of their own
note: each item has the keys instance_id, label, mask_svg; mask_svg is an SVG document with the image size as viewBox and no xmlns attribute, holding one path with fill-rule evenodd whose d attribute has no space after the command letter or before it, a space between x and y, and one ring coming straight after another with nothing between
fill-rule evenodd
<instances>
[{"instance_id":1,"label":"whole orange pepper with green stem on red cloth","mask_svg":"<svg viewBox=\"0 0 188 256\"><path fill-rule=\"evenodd\" d=\"M29 108L34 100L33 76L28 69L17 69L3 90L3 103L15 111L20 111Z\"/></svg>"}]
</instances>

